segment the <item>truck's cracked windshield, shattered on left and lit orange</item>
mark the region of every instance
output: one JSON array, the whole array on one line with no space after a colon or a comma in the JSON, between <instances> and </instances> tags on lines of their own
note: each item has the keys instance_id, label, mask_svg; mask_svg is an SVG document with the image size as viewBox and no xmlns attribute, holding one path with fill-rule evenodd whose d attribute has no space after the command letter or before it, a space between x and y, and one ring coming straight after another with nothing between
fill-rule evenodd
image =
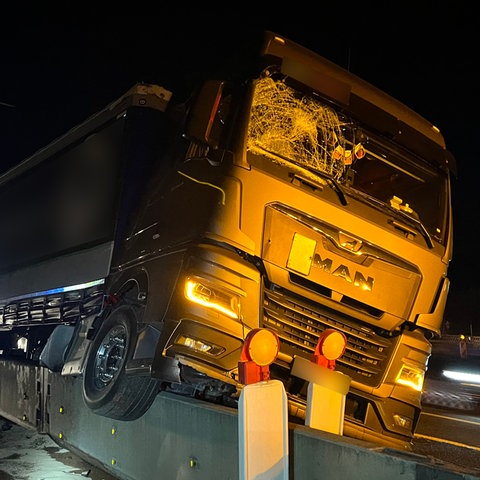
<instances>
[{"instance_id":1,"label":"truck's cracked windshield, shattered on left and lit orange","mask_svg":"<svg viewBox=\"0 0 480 480\"><path fill-rule=\"evenodd\" d=\"M334 182L346 195L398 213L443 242L446 176L284 78L257 80L247 148L279 164L293 163L323 185Z\"/></svg>"}]
</instances>

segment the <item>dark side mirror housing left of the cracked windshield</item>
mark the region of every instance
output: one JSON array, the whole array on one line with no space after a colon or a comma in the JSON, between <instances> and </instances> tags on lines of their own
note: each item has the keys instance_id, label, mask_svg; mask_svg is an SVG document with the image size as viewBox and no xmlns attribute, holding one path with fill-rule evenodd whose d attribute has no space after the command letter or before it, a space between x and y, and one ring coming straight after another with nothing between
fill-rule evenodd
<instances>
[{"instance_id":1,"label":"dark side mirror housing left of the cracked windshield","mask_svg":"<svg viewBox=\"0 0 480 480\"><path fill-rule=\"evenodd\" d=\"M218 148L220 142L220 125L217 118L218 107L222 99L225 82L206 81L200 89L190 110L186 134L189 138Z\"/></svg>"}]
</instances>

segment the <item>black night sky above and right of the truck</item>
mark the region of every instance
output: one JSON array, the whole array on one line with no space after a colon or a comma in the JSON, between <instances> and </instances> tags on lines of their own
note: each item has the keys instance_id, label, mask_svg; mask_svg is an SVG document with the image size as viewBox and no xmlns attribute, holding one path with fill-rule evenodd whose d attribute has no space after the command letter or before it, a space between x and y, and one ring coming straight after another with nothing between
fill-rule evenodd
<instances>
[{"instance_id":1,"label":"black night sky above and right of the truck","mask_svg":"<svg viewBox=\"0 0 480 480\"><path fill-rule=\"evenodd\" d=\"M480 335L476 149L480 21L466 1L330 2L256 11L165 7L99 17L3 16L0 171L100 110L139 81L188 88L240 61L264 30L303 44L385 90L435 124L457 159L454 258L446 318ZM317 2L321 5L327 2ZM408 5L412 5L411 7ZM145 11L142 11L142 6ZM227 8L228 6L228 8ZM266 9L265 9L266 10Z\"/></svg>"}]
</instances>

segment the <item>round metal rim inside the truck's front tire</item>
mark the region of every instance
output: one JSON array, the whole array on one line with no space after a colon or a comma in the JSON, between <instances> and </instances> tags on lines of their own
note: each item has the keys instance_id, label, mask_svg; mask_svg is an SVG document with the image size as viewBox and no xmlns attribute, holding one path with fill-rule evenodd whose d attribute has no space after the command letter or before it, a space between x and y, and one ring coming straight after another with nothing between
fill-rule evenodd
<instances>
[{"instance_id":1,"label":"round metal rim inside the truck's front tire","mask_svg":"<svg viewBox=\"0 0 480 480\"><path fill-rule=\"evenodd\" d=\"M117 325L103 338L94 362L94 382L99 390L107 387L123 367L127 353L127 330Z\"/></svg>"}]
</instances>

